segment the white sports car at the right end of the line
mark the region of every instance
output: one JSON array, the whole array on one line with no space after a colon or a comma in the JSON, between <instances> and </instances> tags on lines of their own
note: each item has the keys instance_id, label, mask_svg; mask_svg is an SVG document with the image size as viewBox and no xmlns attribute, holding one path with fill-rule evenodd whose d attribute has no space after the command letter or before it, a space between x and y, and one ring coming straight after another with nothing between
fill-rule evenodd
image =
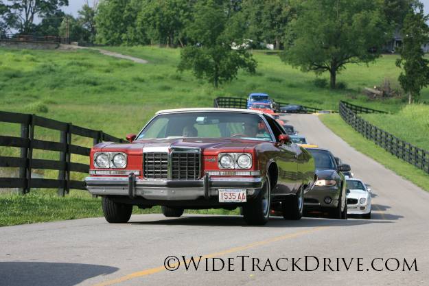
<instances>
[{"instance_id":1,"label":"white sports car at the right end of the line","mask_svg":"<svg viewBox=\"0 0 429 286\"><path fill-rule=\"evenodd\" d=\"M371 189L359 179L347 179L347 214L371 218Z\"/></svg>"}]
</instances>

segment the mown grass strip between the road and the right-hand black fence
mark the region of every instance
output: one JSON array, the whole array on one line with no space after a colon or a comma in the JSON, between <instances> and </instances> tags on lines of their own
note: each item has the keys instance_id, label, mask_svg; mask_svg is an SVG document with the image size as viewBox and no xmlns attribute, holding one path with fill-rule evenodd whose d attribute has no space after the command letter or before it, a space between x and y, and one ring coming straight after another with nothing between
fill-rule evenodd
<instances>
[{"instance_id":1,"label":"mown grass strip between the road and the right-hand black fence","mask_svg":"<svg viewBox=\"0 0 429 286\"><path fill-rule=\"evenodd\" d=\"M349 143L351 147L355 148L359 152L373 158L378 163L384 165L388 169L391 169L399 176L410 180L417 186L429 191L429 176L427 173L405 163L386 152L382 147L375 145L372 141L365 139L360 133L356 132L351 126L349 126L340 115L321 115L321 121L332 130L335 134L340 136L344 141Z\"/></svg>"}]
</instances>

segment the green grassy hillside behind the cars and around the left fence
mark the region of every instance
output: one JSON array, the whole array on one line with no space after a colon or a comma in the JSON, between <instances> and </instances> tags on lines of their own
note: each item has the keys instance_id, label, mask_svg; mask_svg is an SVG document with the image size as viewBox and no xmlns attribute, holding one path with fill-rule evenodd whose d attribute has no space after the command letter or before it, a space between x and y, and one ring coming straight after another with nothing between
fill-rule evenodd
<instances>
[{"instance_id":1,"label":"green grassy hillside behind the cars and around the left fence","mask_svg":"<svg viewBox=\"0 0 429 286\"><path fill-rule=\"evenodd\" d=\"M251 92L266 92L277 101L325 109L337 109L339 99L392 112L399 112L404 105L401 99L372 101L361 93L365 86L380 85L384 78L396 82L399 75L399 69L395 67L396 56L383 56L368 66L349 65L338 75L338 81L344 82L347 88L332 91L314 86L316 76L313 73L292 69L283 64L275 53L254 51L258 62L257 73L250 75L242 72L237 80L216 89L204 80L194 78L190 72L176 71L179 49L106 49L137 56L149 60L149 63L137 64L82 49L0 49L0 109L35 113L124 137L127 133L138 132L156 110L212 106L215 97L246 97ZM422 98L429 99L429 88L424 89ZM0 123L0 134L19 136L19 126ZM35 137L58 141L60 134L36 128ZM92 145L90 139L80 136L73 136L72 143L87 147ZM0 148L0 156L18 154L18 148ZM59 156L58 152L40 151L35 151L34 155L35 158L47 159L57 159ZM71 160L87 163L88 159L73 155ZM44 178L56 178L58 175L56 171L35 172ZM0 176L16 176L16 171L0 168ZM83 177L84 174L71 174L71 178L76 180ZM60 209L60 205L69 207ZM33 213L20 209L32 210ZM77 192L67 198L56 198L54 191L47 190L35 190L34 194L25 197L0 195L0 216L6 220L1 225L94 215L101 215L100 202L87 193Z\"/></svg>"}]
</instances>

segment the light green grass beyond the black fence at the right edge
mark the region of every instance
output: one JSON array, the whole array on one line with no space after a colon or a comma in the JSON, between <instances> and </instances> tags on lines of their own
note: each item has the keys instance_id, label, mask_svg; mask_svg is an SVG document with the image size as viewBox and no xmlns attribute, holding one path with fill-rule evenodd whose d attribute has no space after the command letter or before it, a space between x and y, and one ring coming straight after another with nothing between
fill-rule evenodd
<instances>
[{"instance_id":1,"label":"light green grass beyond the black fence at the right edge","mask_svg":"<svg viewBox=\"0 0 429 286\"><path fill-rule=\"evenodd\" d=\"M364 119L399 139L429 151L429 106L413 104L393 115L369 114Z\"/></svg>"}]
</instances>

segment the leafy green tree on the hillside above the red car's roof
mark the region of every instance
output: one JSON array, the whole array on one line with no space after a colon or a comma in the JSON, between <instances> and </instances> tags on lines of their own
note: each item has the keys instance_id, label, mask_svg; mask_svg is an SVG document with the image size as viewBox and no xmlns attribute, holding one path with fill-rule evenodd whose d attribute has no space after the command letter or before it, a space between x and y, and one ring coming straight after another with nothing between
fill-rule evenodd
<instances>
[{"instance_id":1,"label":"leafy green tree on the hillside above the red car's roof","mask_svg":"<svg viewBox=\"0 0 429 286\"><path fill-rule=\"evenodd\" d=\"M229 13L222 1L198 1L194 21L187 27L192 45L182 49L178 70L192 70L197 78L205 78L215 87L233 80L239 69L254 73L256 62L251 54L231 49L233 43L240 47L244 42L240 15Z\"/></svg>"}]
</instances>

